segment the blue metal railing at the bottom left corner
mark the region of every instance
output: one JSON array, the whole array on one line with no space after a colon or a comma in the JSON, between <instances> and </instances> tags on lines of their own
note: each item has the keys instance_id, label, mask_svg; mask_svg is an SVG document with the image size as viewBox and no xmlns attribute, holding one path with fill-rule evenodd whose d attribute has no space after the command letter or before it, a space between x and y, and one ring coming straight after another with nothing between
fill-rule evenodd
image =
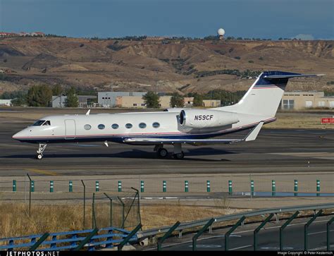
<instances>
[{"instance_id":1,"label":"blue metal railing at the bottom left corner","mask_svg":"<svg viewBox=\"0 0 334 256\"><path fill-rule=\"evenodd\" d=\"M21 236L14 238L0 238L0 250L16 250L18 248L30 248L42 250L75 250L87 248L96 250L97 248L113 248L128 238L130 231L122 228L106 227L100 229L86 229L81 231L69 231L59 233L46 233L32 236ZM94 236L89 236L93 235ZM47 236L46 236L47 235ZM51 240L47 240L50 237ZM137 241L137 235L134 234L128 241ZM42 240L42 243L40 243ZM37 247L36 247L37 245ZM101 246L104 245L104 246Z\"/></svg>"}]
</instances>

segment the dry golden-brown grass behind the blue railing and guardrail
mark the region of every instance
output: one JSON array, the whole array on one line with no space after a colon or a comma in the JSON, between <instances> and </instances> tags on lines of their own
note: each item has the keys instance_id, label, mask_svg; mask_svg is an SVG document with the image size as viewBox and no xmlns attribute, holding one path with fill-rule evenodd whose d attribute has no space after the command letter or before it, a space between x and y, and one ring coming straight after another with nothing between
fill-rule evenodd
<instances>
[{"instance_id":1,"label":"dry golden-brown grass behind the blue railing and guardrail","mask_svg":"<svg viewBox=\"0 0 334 256\"><path fill-rule=\"evenodd\" d=\"M226 209L225 202L215 202L214 207L196 205L145 205L140 208L143 229L168 226L176 221L194 221L223 214L233 214L241 210ZM221 205L219 207L218 205ZM82 205L29 205L24 203L0 204L0 238L25 236L45 232L80 230L83 228ZM109 226L109 205L96 205L97 226ZM86 206L85 228L92 227L92 207ZM117 216L118 215L118 216ZM113 226L120 226L121 216L113 211Z\"/></svg>"}]
</instances>

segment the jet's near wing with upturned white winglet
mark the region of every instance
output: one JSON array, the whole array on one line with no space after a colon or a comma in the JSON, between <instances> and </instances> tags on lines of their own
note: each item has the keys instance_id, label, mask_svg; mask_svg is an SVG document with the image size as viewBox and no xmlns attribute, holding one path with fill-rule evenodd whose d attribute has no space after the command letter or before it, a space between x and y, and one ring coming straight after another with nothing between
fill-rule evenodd
<instances>
[{"instance_id":1,"label":"jet's near wing with upturned white winglet","mask_svg":"<svg viewBox=\"0 0 334 256\"><path fill-rule=\"evenodd\" d=\"M157 144L175 144L175 143L188 143L192 145L196 144L231 144L235 142L251 141L255 140L259 134L264 121L257 124L243 139L163 139L163 138L126 138L123 142L132 145L157 145Z\"/></svg>"}]
</instances>

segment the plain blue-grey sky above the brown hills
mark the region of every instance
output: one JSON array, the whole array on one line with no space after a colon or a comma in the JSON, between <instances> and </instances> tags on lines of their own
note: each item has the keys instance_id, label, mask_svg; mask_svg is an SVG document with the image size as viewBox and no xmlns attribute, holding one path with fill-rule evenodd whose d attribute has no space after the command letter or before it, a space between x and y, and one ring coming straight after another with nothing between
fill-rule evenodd
<instances>
[{"instance_id":1,"label":"plain blue-grey sky above the brown hills","mask_svg":"<svg viewBox=\"0 0 334 256\"><path fill-rule=\"evenodd\" d=\"M334 0L0 0L0 31L334 39Z\"/></svg>"}]
</instances>

